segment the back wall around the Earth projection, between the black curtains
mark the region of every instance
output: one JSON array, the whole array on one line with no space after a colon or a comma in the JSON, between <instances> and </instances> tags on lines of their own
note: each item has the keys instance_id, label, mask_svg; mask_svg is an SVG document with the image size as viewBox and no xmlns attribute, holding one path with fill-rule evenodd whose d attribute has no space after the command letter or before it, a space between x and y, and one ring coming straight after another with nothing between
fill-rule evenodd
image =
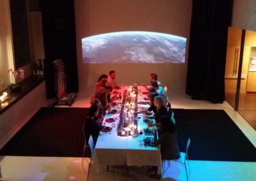
<instances>
[{"instance_id":1,"label":"back wall around the Earth projection, between the black curtains","mask_svg":"<svg viewBox=\"0 0 256 181\"><path fill-rule=\"evenodd\" d=\"M99 75L116 71L117 83L149 83L150 73L171 91L185 92L192 0L76 0L79 89L93 92ZM83 64L81 39L116 31L155 31L187 38L185 64Z\"/></svg>"}]
</instances>

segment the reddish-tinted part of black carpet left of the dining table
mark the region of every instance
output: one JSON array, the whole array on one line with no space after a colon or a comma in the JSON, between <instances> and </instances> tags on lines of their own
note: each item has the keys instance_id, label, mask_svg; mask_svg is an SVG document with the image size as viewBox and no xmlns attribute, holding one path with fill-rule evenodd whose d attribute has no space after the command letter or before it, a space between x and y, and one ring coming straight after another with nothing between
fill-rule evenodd
<instances>
[{"instance_id":1,"label":"reddish-tinted part of black carpet left of the dining table","mask_svg":"<svg viewBox=\"0 0 256 181\"><path fill-rule=\"evenodd\" d=\"M87 112L88 108L40 108L0 155L83 157L82 128Z\"/></svg>"}]
</instances>

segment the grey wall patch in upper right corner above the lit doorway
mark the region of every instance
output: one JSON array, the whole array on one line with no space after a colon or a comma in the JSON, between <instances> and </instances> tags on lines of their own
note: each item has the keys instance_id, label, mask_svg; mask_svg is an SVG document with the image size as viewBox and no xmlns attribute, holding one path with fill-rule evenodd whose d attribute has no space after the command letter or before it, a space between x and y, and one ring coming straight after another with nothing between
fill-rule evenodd
<instances>
[{"instance_id":1,"label":"grey wall patch in upper right corner above the lit doorway","mask_svg":"<svg viewBox=\"0 0 256 181\"><path fill-rule=\"evenodd\" d=\"M232 27L256 31L255 0L234 0Z\"/></svg>"}]
</instances>

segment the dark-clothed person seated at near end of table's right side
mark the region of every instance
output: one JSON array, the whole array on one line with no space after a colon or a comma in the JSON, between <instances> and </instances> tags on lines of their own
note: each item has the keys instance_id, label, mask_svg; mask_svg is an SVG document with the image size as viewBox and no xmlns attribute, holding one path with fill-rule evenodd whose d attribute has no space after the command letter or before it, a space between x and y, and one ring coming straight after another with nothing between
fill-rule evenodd
<instances>
[{"instance_id":1,"label":"dark-clothed person seated at near end of table's right side","mask_svg":"<svg viewBox=\"0 0 256 181\"><path fill-rule=\"evenodd\" d=\"M161 159L172 160L179 159L180 148L177 140L177 131L175 125L170 121L170 117L163 116L160 118L161 131L159 133L159 139L155 138L155 146L160 145ZM150 175L151 178L161 178L161 175L157 174L157 166L152 167L155 173Z\"/></svg>"}]
</instances>

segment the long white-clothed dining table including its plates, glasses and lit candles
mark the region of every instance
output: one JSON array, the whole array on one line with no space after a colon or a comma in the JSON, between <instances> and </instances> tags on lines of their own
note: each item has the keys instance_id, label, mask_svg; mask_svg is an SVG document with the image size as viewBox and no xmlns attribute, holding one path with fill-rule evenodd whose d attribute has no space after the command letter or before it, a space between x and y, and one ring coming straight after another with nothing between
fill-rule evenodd
<instances>
[{"instance_id":1,"label":"long white-clothed dining table including its plates, glasses and lit candles","mask_svg":"<svg viewBox=\"0 0 256 181\"><path fill-rule=\"evenodd\" d=\"M116 96L102 121L95 145L95 170L99 172L100 165L157 166L161 173L160 148L154 146L153 113L134 113L150 106L144 99L148 98L147 89L133 85L113 91L119 98Z\"/></svg>"}]
</instances>

